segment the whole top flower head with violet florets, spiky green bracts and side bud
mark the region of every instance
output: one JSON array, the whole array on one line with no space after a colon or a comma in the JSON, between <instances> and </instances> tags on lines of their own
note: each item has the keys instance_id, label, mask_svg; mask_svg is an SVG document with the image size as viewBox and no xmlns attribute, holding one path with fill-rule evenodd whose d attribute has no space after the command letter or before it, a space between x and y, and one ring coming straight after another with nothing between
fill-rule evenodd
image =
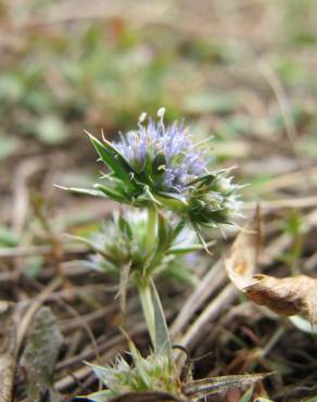
<instances>
[{"instance_id":1,"label":"whole top flower head with violet florets, spiky green bracts and side bud","mask_svg":"<svg viewBox=\"0 0 317 402\"><path fill-rule=\"evenodd\" d=\"M102 196L138 208L170 210L200 233L202 226L231 223L239 213L240 186L232 184L230 169L210 172L199 145L183 123L164 124L140 116L138 128L121 140L103 142L88 136L109 174L94 189L71 190Z\"/></svg>"}]
</instances>

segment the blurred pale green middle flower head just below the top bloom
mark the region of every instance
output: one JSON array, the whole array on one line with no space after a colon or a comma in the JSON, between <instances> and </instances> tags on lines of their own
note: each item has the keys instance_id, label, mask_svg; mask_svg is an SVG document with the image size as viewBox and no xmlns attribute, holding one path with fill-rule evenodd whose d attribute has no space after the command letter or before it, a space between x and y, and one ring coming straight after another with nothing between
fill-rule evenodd
<instances>
[{"instance_id":1,"label":"blurred pale green middle flower head just below the top bloom","mask_svg":"<svg viewBox=\"0 0 317 402\"><path fill-rule=\"evenodd\" d=\"M118 277L127 268L129 280L139 286L162 273L192 282L194 276L183 254L202 249L192 235L182 224L173 225L170 217L160 214L149 243L147 211L135 210L115 212L103 230L79 240L96 251L88 266Z\"/></svg>"}]
</instances>

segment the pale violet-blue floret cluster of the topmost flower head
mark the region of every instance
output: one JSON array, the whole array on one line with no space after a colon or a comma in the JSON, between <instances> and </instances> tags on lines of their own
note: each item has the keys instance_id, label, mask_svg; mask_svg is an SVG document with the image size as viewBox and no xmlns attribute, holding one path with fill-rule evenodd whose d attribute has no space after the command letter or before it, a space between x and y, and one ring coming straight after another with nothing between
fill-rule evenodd
<instances>
[{"instance_id":1,"label":"pale violet-blue floret cluster of the topmost flower head","mask_svg":"<svg viewBox=\"0 0 317 402\"><path fill-rule=\"evenodd\" d=\"M164 108L160 109L158 122L150 118L148 125L143 124L147 115L142 113L139 128L121 135L121 141L114 146L138 174L149 166L156 168L156 174L163 176L153 180L157 189L183 193L192 180L207 173L207 166L183 123L166 127L164 113Z\"/></svg>"}]
</instances>

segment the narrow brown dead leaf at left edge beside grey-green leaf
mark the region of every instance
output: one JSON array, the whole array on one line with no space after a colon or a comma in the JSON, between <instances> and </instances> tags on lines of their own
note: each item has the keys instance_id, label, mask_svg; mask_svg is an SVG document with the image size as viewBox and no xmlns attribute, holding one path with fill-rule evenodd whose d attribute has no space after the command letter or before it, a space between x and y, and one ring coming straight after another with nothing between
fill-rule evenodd
<instances>
[{"instance_id":1,"label":"narrow brown dead leaf at left edge beside grey-green leaf","mask_svg":"<svg viewBox=\"0 0 317 402\"><path fill-rule=\"evenodd\" d=\"M12 401L16 365L16 310L13 303L0 301L0 401Z\"/></svg>"}]
</instances>

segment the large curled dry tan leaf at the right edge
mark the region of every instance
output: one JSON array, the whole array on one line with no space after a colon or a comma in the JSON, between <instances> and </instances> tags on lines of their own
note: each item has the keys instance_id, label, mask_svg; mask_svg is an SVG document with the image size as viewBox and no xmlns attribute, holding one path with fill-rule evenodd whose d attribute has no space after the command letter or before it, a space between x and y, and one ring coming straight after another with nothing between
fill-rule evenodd
<instances>
[{"instance_id":1,"label":"large curled dry tan leaf at the right edge","mask_svg":"<svg viewBox=\"0 0 317 402\"><path fill-rule=\"evenodd\" d=\"M306 275L275 278L254 275L259 248L259 211L239 233L232 244L226 268L231 281L253 302L274 312L292 316L301 315L317 324L317 279Z\"/></svg>"}]
</instances>

